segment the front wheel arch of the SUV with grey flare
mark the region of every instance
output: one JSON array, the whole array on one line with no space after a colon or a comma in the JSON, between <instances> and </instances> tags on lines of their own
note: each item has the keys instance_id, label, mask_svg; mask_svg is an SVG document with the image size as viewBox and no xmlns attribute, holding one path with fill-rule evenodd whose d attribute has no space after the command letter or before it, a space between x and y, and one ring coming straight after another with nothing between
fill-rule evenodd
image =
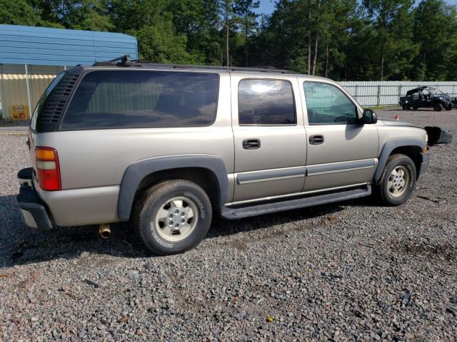
<instances>
[{"instance_id":1,"label":"front wheel arch of the SUV with grey flare","mask_svg":"<svg viewBox=\"0 0 457 342\"><path fill-rule=\"evenodd\" d=\"M424 147L426 147L426 142L419 138L402 138L386 142L378 158L378 167L373 176L373 184L378 184L381 180L388 157L397 153L407 155L413 160L414 165L416 165L416 177L418 177L421 171L421 152Z\"/></svg>"}]
</instances>

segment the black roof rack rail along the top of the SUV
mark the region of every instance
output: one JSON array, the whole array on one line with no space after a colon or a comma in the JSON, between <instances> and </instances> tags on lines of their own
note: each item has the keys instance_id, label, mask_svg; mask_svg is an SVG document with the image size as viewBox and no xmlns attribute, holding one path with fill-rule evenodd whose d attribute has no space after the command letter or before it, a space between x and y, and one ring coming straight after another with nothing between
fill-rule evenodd
<instances>
[{"instance_id":1,"label":"black roof rack rail along the top of the SUV","mask_svg":"<svg viewBox=\"0 0 457 342\"><path fill-rule=\"evenodd\" d=\"M96 62L93 66L135 66L144 67L152 66L154 68L164 69L206 69L206 70L222 70L222 71L256 71L260 73L296 73L291 70L276 69L273 66L256 66L256 67L240 67L240 66L194 66L191 64L164 64L151 63L149 61L131 61L130 56L121 56L111 61Z\"/></svg>"}]
</instances>

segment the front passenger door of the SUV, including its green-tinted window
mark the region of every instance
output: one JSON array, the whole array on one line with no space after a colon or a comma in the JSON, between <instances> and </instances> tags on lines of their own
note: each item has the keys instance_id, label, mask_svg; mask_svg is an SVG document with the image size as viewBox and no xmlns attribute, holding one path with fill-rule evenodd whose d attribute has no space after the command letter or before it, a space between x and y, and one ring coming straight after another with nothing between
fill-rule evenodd
<instances>
[{"instance_id":1,"label":"front passenger door of the SUV, including its green-tinted window","mask_svg":"<svg viewBox=\"0 0 457 342\"><path fill-rule=\"evenodd\" d=\"M304 191L371 182L378 162L376 125L360 123L357 106L338 86L312 81L302 86L308 121Z\"/></svg>"}]
</instances>

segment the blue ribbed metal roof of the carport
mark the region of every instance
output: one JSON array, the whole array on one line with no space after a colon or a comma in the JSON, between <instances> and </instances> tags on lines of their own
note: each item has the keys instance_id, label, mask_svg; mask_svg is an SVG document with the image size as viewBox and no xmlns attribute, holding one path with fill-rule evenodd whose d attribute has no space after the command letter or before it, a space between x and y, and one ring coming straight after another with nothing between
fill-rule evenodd
<instances>
[{"instance_id":1,"label":"blue ribbed metal roof of the carport","mask_svg":"<svg viewBox=\"0 0 457 342\"><path fill-rule=\"evenodd\" d=\"M0 63L76 66L124 55L138 58L136 38L123 33L0 25Z\"/></svg>"}]
</instances>

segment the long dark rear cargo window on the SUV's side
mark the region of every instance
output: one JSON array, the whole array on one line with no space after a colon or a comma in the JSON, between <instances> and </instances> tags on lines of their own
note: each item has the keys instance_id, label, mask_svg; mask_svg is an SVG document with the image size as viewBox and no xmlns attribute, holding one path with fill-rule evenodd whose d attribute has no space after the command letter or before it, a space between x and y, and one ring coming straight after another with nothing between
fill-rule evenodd
<instances>
[{"instance_id":1,"label":"long dark rear cargo window on the SUV's side","mask_svg":"<svg viewBox=\"0 0 457 342\"><path fill-rule=\"evenodd\" d=\"M218 88L216 73L93 71L76 89L61 129L211 125Z\"/></svg>"}]
</instances>

